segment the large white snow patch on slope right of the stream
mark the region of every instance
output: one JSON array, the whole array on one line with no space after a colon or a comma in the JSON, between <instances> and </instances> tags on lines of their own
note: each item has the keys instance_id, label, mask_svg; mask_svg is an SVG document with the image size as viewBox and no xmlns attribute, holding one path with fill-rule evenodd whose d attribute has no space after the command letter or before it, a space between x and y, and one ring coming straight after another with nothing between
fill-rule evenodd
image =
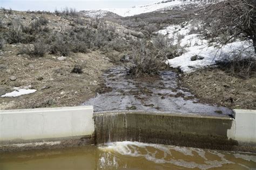
<instances>
[{"instance_id":1,"label":"large white snow patch on slope right of the stream","mask_svg":"<svg viewBox=\"0 0 256 170\"><path fill-rule=\"evenodd\" d=\"M170 38L173 40L173 45L179 45L186 51L184 54L166 61L166 64L173 68L179 68L184 73L191 73L199 68L215 65L217 60L231 60L238 54L241 55L241 58L255 55L250 41L236 41L220 48L220 45L217 46L216 43L210 46L208 40L203 39L201 34L189 34L192 29L197 30L199 27L200 24L195 26L189 22L171 25L157 32ZM191 61L191 56L194 55L203 59Z\"/></svg>"}]
</instances>

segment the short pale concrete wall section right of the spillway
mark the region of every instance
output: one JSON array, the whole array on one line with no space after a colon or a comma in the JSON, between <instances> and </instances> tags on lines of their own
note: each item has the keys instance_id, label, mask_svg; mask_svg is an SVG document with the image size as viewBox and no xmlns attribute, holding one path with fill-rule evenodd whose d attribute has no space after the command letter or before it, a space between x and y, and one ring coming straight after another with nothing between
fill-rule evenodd
<instances>
[{"instance_id":1,"label":"short pale concrete wall section right of the spillway","mask_svg":"<svg viewBox=\"0 0 256 170\"><path fill-rule=\"evenodd\" d=\"M256 110L235 109L234 112L235 119L228 130L228 138L256 146Z\"/></svg>"}]
</instances>

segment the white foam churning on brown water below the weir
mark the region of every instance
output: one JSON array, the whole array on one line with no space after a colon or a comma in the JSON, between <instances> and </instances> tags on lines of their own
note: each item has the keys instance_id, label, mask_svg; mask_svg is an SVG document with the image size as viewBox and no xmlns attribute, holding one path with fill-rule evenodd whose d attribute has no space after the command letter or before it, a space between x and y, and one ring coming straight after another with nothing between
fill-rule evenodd
<instances>
[{"instance_id":1,"label":"white foam churning on brown water below the weir","mask_svg":"<svg viewBox=\"0 0 256 170\"><path fill-rule=\"evenodd\" d=\"M149 150L149 147L152 147L152 149ZM214 167L222 167L224 164L234 164L234 162L225 159L224 154L221 154L217 151L210 151L210 150L205 151L199 148L191 148L191 147L178 147L178 146L171 146L171 145L139 143L136 141L135 142L123 141L123 142L107 143L103 146L99 146L98 148L99 150L102 150L104 152L118 153L121 155L130 156L130 157L144 157L146 160L154 162L156 164L173 164L173 165L184 167L184 168L208 169L208 168L214 168ZM158 151L164 152L164 156L162 158L156 157L156 154L158 153ZM194 151L202 158L204 164L197 164L196 162L185 161L183 159L174 159L172 157L172 153L171 153L172 151L178 151L181 154L184 154L184 157L187 155L193 156L194 154L192 153L192 151ZM221 161L217 161L217 160L209 161L205 156L206 152L218 155Z\"/></svg>"}]
</instances>

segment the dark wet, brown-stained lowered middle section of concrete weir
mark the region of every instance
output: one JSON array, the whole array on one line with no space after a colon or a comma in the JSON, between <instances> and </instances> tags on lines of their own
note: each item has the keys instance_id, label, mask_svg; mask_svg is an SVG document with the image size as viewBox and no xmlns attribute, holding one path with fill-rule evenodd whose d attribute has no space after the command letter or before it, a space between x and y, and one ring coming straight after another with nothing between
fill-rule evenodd
<instances>
[{"instance_id":1,"label":"dark wet, brown-stained lowered middle section of concrete weir","mask_svg":"<svg viewBox=\"0 0 256 170\"><path fill-rule=\"evenodd\" d=\"M199 114L112 112L95 114L96 143L140 141L177 146L233 150L227 138L232 118Z\"/></svg>"}]
</instances>

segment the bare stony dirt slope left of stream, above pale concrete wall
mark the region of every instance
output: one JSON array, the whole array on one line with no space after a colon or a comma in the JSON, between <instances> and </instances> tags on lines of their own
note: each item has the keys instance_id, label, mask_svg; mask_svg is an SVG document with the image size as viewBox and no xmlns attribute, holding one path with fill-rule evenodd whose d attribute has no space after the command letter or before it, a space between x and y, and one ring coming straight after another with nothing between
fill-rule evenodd
<instances>
[{"instance_id":1,"label":"bare stony dirt slope left of stream, above pale concrete wall","mask_svg":"<svg viewBox=\"0 0 256 170\"><path fill-rule=\"evenodd\" d=\"M0 56L0 95L14 87L29 87L36 93L19 97L0 97L0 109L66 107L83 103L104 84L102 74L112 63L99 51L71 54L66 60L59 56L30 58L17 55L19 45L6 45ZM71 73L78 63L83 73ZM11 81L10 77L16 80Z\"/></svg>"}]
</instances>

